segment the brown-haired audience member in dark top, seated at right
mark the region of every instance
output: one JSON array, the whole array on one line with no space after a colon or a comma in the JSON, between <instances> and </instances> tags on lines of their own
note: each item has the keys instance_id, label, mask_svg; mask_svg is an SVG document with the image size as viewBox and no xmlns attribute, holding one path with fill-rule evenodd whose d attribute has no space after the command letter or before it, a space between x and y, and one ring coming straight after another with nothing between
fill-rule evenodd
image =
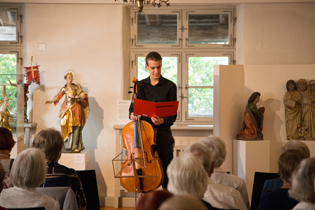
<instances>
[{"instance_id":1,"label":"brown-haired audience member in dark top, seated at right","mask_svg":"<svg viewBox=\"0 0 315 210\"><path fill-rule=\"evenodd\" d=\"M292 173L305 158L307 154L296 149L287 150L279 157L279 176L283 185L273 192L266 193L260 200L258 210L287 210L298 203L297 200L289 197L288 191L291 188Z\"/></svg>"}]
</instances>

